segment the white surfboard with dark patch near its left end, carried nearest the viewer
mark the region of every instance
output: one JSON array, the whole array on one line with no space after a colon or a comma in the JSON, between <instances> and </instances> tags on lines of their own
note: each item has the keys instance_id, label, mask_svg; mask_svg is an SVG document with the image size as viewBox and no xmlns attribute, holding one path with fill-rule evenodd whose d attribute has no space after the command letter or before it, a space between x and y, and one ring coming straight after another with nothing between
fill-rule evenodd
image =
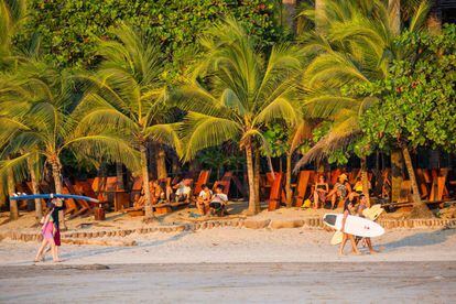
<instances>
[{"instance_id":1,"label":"white surfboard with dark patch near its left end, carried nearest the viewer","mask_svg":"<svg viewBox=\"0 0 456 304\"><path fill-rule=\"evenodd\" d=\"M325 214L323 222L340 231L343 218L343 214ZM349 215L345 222L345 232L363 238L376 238L383 235L384 229L372 220Z\"/></svg>"}]
</instances>

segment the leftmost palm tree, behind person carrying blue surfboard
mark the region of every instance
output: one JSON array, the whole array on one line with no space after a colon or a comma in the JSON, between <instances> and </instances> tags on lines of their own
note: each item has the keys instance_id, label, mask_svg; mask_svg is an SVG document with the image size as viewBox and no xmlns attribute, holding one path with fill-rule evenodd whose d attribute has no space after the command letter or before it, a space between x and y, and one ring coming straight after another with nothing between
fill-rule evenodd
<instances>
[{"instance_id":1,"label":"leftmost palm tree, behind person carrying blue surfboard","mask_svg":"<svg viewBox=\"0 0 456 304\"><path fill-rule=\"evenodd\" d=\"M75 158L102 156L138 167L138 155L126 138L109 126L102 128L84 122L72 113L74 94L69 77L42 62L28 63L4 79L0 91L0 137L9 137L2 149L0 175L14 170L26 174L28 162L40 155L50 165L55 192L62 193L61 155L65 150ZM62 217L63 219L63 217Z\"/></svg>"}]
</instances>

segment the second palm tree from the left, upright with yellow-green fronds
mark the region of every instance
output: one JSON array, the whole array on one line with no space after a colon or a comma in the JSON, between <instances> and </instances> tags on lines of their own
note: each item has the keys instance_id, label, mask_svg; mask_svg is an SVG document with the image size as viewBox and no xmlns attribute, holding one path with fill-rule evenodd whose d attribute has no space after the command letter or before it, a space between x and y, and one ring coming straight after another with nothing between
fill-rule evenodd
<instances>
[{"instance_id":1,"label":"second palm tree from the left, upright with yellow-green fronds","mask_svg":"<svg viewBox=\"0 0 456 304\"><path fill-rule=\"evenodd\" d=\"M102 62L94 75L84 76L91 88L76 110L85 115L82 122L94 128L105 124L120 128L130 139L130 145L139 151L148 219L153 217L148 143L151 140L166 143L180 153L181 143L175 132L178 124L167 123L173 121L173 108L167 105L169 89L163 79L165 58L160 45L126 24L112 34L115 40L99 42Z\"/></svg>"}]
</instances>

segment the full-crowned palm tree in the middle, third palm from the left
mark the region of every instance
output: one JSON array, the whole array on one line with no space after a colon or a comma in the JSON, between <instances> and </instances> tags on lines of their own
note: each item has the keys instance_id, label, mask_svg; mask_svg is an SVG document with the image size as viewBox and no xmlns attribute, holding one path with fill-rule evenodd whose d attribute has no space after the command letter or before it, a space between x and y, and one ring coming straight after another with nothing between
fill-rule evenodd
<instances>
[{"instance_id":1,"label":"full-crowned palm tree in the middle, third palm from the left","mask_svg":"<svg viewBox=\"0 0 456 304\"><path fill-rule=\"evenodd\" d=\"M253 155L258 146L268 151L264 124L283 119L301 120L293 99L300 52L275 45L269 55L234 19L215 25L202 39L205 59L187 84L180 88L180 107L188 111L183 122L185 160L205 148L239 142L247 159L249 213L259 211L256 197Z\"/></svg>"}]
</instances>

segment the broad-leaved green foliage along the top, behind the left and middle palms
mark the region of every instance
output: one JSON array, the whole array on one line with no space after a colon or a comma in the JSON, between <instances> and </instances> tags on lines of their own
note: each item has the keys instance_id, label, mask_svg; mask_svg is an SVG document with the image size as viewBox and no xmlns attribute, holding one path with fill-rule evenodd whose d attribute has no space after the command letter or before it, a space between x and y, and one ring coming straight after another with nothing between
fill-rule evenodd
<instances>
[{"instance_id":1,"label":"broad-leaved green foliage along the top, behind the left and middle palms","mask_svg":"<svg viewBox=\"0 0 456 304\"><path fill-rule=\"evenodd\" d=\"M170 63L170 77L183 74L194 59L197 36L215 21L232 14L265 44L275 41L272 0L30 0L30 19L22 42L37 31L46 58L61 67L90 67L98 62L96 46L120 21L140 28Z\"/></svg>"}]
</instances>

